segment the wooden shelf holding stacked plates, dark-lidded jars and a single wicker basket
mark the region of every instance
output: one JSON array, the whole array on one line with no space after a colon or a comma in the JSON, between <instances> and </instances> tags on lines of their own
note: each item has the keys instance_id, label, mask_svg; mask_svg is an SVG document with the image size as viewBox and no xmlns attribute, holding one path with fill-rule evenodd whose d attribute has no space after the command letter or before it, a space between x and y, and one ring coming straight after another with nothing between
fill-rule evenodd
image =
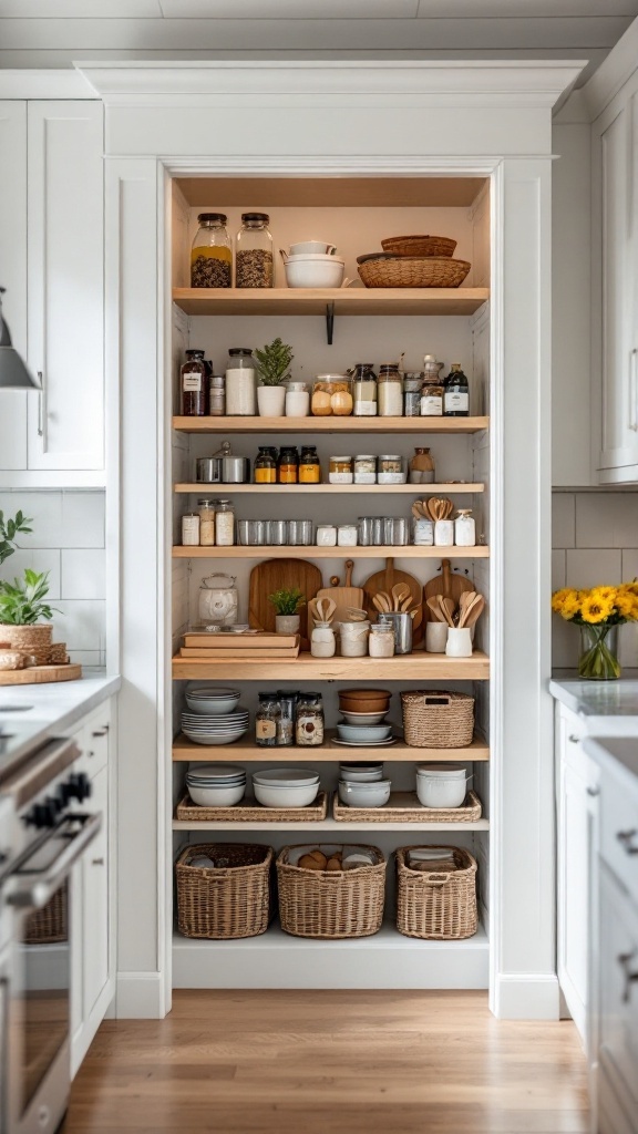
<instances>
[{"instance_id":1,"label":"wooden shelf holding stacked plates, dark-lidded jars and a single wicker basket","mask_svg":"<svg viewBox=\"0 0 638 1134\"><path fill-rule=\"evenodd\" d=\"M322 744L317 748L303 748L299 747L299 745L286 748L265 748L255 744L254 738L251 739L250 737L244 737L242 741L235 741L234 744L225 745L194 744L192 741L188 741L183 733L181 733L176 736L173 744L173 760L176 762L184 760L202 760L208 762L211 760L218 761L228 758L232 762L242 760L245 763L261 764L268 763L269 761L275 761L277 764L292 763L295 765L300 761L302 763L309 761L312 764L334 764L338 763L341 760L345 760L349 753L351 753L351 760L355 759L367 761L381 759L385 764L396 764L400 762L423 763L428 760L434 760L437 763L447 761L452 763L470 763L478 760L489 760L489 745L480 736L475 736L472 743L464 748L413 748L405 744L405 741L397 741L396 744L391 745L388 748L384 748L380 756L379 751L379 748L375 747L347 748L342 744L333 744L331 730L328 730L328 739L326 744ZM355 755L353 756L352 753ZM242 826L245 827L246 824L243 823ZM468 827L468 823L463 823L463 827Z\"/></svg>"}]
</instances>

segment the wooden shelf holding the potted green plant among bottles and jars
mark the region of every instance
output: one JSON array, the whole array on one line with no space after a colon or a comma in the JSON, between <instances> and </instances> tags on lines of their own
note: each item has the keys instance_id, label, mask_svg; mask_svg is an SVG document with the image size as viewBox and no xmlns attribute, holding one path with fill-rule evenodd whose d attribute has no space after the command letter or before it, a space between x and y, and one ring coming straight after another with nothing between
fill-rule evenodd
<instances>
[{"instance_id":1,"label":"wooden shelf holding the potted green plant among bottles and jars","mask_svg":"<svg viewBox=\"0 0 638 1134\"><path fill-rule=\"evenodd\" d=\"M181 433L480 433L489 417L174 417ZM372 485L370 485L372 486ZM414 484L412 488L419 489Z\"/></svg>"}]
</instances>

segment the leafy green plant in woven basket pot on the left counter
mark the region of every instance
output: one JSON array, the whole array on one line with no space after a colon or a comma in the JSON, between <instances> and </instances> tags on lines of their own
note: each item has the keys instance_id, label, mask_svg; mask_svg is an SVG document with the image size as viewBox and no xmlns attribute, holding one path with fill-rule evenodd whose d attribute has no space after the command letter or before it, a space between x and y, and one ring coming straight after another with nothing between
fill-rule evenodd
<instances>
[{"instance_id":1,"label":"leafy green plant in woven basket pot on the left counter","mask_svg":"<svg viewBox=\"0 0 638 1134\"><path fill-rule=\"evenodd\" d=\"M0 638L31 654L36 666L45 666L51 652L53 608L44 601L48 593L49 572L39 575L28 567L22 579L0 583Z\"/></svg>"}]
</instances>

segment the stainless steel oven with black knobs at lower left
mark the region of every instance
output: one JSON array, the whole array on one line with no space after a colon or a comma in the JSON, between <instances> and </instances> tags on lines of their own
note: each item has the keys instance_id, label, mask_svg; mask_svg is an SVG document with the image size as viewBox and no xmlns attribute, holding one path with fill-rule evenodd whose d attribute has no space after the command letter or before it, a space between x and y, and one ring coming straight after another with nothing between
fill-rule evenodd
<instances>
[{"instance_id":1,"label":"stainless steel oven with black knobs at lower left","mask_svg":"<svg viewBox=\"0 0 638 1134\"><path fill-rule=\"evenodd\" d=\"M0 803L14 831L14 849L0 866L2 1134L54 1134L67 1106L69 874L102 822L100 814L78 810L91 789L82 773L69 773L78 755L73 742L50 742L0 782Z\"/></svg>"}]
</instances>

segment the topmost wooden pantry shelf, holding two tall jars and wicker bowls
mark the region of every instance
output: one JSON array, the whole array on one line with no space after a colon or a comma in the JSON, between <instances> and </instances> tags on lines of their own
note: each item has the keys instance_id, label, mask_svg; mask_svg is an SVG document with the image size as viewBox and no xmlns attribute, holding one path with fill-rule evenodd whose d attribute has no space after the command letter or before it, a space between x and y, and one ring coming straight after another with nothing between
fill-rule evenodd
<instances>
[{"instance_id":1,"label":"topmost wooden pantry shelf, holding two tall jars and wicker bowls","mask_svg":"<svg viewBox=\"0 0 638 1134\"><path fill-rule=\"evenodd\" d=\"M187 315L473 315L489 288L191 288L173 289Z\"/></svg>"}]
</instances>

